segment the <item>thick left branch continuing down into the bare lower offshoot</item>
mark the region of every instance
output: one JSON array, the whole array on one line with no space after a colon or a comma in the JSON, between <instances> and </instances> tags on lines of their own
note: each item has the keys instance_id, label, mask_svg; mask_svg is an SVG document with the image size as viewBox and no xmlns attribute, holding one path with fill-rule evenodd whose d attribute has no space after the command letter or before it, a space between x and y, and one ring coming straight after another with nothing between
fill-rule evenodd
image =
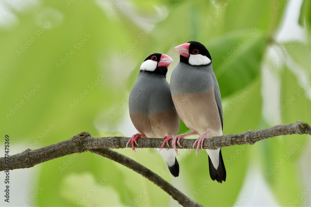
<instances>
[{"instance_id":1,"label":"thick left branch continuing down into the bare lower offshoot","mask_svg":"<svg viewBox=\"0 0 311 207\"><path fill-rule=\"evenodd\" d=\"M82 153L86 151L86 147L83 146L83 141L93 139L90 133L81 132L76 136L53 145L42 147L36 150L27 149L22 153L12 155L9 157L9 165L4 164L4 157L0 158L0 171L3 170L12 170L19 168L30 168L36 164L46 162L64 155L70 155L73 153ZM197 202L191 200L185 196L182 192L172 186L169 182L161 178L156 173L152 172L150 169L147 169L145 166L139 164L138 162L124 156L113 150L104 148L104 149L91 149L87 147L88 151L95 154L107 157L111 160L114 160L129 169L134 170L135 172L141 174L151 182L155 183L157 186L162 188L167 192L173 199L177 200L180 205L183 206L197 206L203 207ZM8 167L10 166L10 167Z\"/></svg>"}]
</instances>

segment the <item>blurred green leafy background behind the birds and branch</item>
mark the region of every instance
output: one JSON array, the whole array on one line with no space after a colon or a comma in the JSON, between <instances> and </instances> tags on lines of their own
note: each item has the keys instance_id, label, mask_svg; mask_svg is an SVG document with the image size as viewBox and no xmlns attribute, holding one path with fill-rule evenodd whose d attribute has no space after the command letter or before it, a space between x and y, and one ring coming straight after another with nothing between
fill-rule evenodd
<instances>
[{"instance_id":1,"label":"blurred green leafy background behind the birds and branch","mask_svg":"<svg viewBox=\"0 0 311 207\"><path fill-rule=\"evenodd\" d=\"M191 40L211 53L224 135L311 124L309 0L2 0L0 10L0 128L11 155L82 131L132 136L128 95L142 61L171 56L169 81L179 62L173 48ZM189 130L181 123L179 132ZM0 146L4 154L4 140ZM225 147L222 184L211 182L203 151L179 150L178 178L155 149L116 151L204 206L310 206L310 150L307 135ZM2 189L3 172L0 179ZM13 170L10 190L10 206L179 206L89 152Z\"/></svg>"}]
</instances>

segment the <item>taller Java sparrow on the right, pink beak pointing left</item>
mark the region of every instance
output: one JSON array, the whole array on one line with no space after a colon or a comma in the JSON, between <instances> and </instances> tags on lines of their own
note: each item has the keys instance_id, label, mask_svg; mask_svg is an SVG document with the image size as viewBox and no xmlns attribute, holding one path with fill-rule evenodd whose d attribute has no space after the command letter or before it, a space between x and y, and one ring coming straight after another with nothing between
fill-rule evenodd
<instances>
[{"instance_id":1,"label":"taller Java sparrow on the right, pink beak pointing left","mask_svg":"<svg viewBox=\"0 0 311 207\"><path fill-rule=\"evenodd\" d=\"M173 70L170 90L177 113L191 133L181 134L176 141L198 134L197 152L205 138L222 135L223 113L218 82L213 72L211 55L199 42L188 42L174 48L180 54L180 62ZM222 183L226 180L226 169L221 149L206 150L209 157L209 171L212 180Z\"/></svg>"}]
</instances>

